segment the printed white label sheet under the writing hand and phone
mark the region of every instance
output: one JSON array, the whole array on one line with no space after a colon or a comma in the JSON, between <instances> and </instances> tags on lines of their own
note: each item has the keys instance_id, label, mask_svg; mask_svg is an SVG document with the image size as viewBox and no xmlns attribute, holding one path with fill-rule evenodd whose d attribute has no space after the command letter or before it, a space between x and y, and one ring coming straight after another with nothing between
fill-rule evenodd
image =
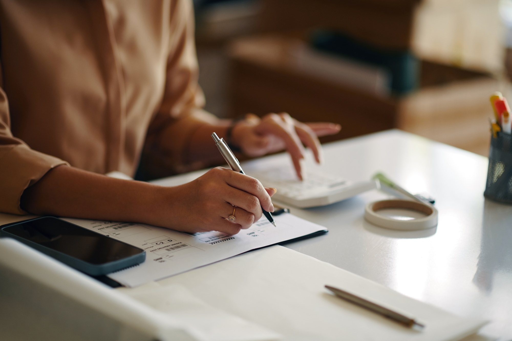
<instances>
[{"instance_id":1,"label":"printed white label sheet under the writing hand and phone","mask_svg":"<svg viewBox=\"0 0 512 341\"><path fill-rule=\"evenodd\" d=\"M138 223L72 218L65 220L146 250L144 263L109 274L113 280L129 287L163 279L252 249L326 230L323 226L290 214L274 217L277 227L262 217L249 229L241 230L234 236L217 231L190 235Z\"/></svg>"}]
</instances>

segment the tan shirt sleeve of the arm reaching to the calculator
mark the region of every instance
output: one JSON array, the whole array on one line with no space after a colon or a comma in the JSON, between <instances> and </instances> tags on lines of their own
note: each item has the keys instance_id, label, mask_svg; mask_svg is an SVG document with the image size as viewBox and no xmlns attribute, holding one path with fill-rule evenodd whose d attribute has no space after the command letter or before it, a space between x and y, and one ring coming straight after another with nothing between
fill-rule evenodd
<instances>
[{"instance_id":1,"label":"tan shirt sleeve of the arm reaching to the calculator","mask_svg":"<svg viewBox=\"0 0 512 341\"><path fill-rule=\"evenodd\" d=\"M218 118L204 110L204 95L198 84L198 63L194 38L194 12L189 0L177 0L170 11L169 52L161 106L147 131L141 167L153 168L161 177L197 169L187 164L184 154L190 137L205 123ZM172 134L172 150L162 150L161 133ZM140 169L140 168L139 168ZM157 170L159 169L159 170Z\"/></svg>"}]
</instances>

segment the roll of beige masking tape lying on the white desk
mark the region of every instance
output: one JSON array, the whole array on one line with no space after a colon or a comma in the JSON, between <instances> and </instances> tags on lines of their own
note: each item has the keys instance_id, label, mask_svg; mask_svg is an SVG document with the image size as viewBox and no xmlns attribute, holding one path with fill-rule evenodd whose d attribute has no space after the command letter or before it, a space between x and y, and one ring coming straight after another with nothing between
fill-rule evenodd
<instances>
[{"instance_id":1,"label":"roll of beige masking tape lying on the white desk","mask_svg":"<svg viewBox=\"0 0 512 341\"><path fill-rule=\"evenodd\" d=\"M378 213L379 210L388 208L418 211L424 214L425 217L400 220ZM423 230L437 225L437 209L434 206L418 201L401 199L381 200L366 205L365 219L374 225L393 230Z\"/></svg>"}]
</instances>

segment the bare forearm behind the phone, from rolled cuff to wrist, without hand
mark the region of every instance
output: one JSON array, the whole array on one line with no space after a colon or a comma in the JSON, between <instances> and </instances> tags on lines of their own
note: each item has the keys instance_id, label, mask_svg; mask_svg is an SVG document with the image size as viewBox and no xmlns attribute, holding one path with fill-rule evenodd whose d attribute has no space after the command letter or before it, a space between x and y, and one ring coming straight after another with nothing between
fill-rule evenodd
<instances>
[{"instance_id":1,"label":"bare forearm behind the phone, from rolled cuff to wrist, without hand","mask_svg":"<svg viewBox=\"0 0 512 341\"><path fill-rule=\"evenodd\" d=\"M24 191L22 208L36 215L152 223L162 188L63 165Z\"/></svg>"}]
</instances>

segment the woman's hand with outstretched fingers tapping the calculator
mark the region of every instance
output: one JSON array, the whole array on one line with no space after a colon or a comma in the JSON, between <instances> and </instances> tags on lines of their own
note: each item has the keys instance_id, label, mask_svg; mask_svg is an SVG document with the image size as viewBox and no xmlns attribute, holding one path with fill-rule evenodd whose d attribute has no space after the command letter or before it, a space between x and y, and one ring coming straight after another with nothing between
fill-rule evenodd
<instances>
[{"instance_id":1,"label":"woman's hand with outstretched fingers tapping the calculator","mask_svg":"<svg viewBox=\"0 0 512 341\"><path fill-rule=\"evenodd\" d=\"M287 113L268 114L259 118L247 114L232 130L232 142L250 157L287 150L290 153L297 177L302 180L301 160L304 159L303 143L309 147L316 162L322 162L322 147L318 136L333 135L342 127L327 122L302 123Z\"/></svg>"}]
</instances>

